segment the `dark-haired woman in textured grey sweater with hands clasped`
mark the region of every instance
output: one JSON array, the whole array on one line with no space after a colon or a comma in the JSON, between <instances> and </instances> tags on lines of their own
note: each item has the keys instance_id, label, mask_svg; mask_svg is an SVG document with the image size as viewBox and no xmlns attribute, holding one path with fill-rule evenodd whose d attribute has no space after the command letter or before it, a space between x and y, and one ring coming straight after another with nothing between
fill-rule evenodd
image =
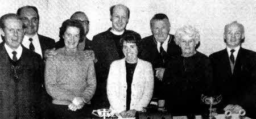
<instances>
[{"instance_id":1,"label":"dark-haired woman in textured grey sweater with hands clasped","mask_svg":"<svg viewBox=\"0 0 256 119\"><path fill-rule=\"evenodd\" d=\"M75 20L65 20L60 27L60 39L65 46L47 58L46 90L52 96L54 118L84 118L90 115L90 99L96 90L93 58L77 49L84 28Z\"/></svg>"}]
</instances>

